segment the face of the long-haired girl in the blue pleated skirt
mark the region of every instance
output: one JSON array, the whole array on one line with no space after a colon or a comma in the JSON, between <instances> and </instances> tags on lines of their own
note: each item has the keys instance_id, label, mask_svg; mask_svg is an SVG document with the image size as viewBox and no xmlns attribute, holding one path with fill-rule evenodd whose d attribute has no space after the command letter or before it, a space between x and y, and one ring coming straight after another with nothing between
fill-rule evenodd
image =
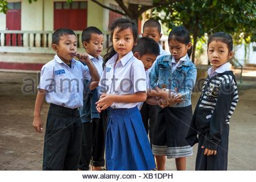
<instances>
[{"instance_id":1,"label":"face of the long-haired girl in the blue pleated skirt","mask_svg":"<svg viewBox=\"0 0 256 182\"><path fill-rule=\"evenodd\" d=\"M121 32L118 31L119 28L115 28L113 32L113 47L115 52L118 53L118 59L121 59L133 49L135 42L131 28L126 28Z\"/></svg>"}]
</instances>

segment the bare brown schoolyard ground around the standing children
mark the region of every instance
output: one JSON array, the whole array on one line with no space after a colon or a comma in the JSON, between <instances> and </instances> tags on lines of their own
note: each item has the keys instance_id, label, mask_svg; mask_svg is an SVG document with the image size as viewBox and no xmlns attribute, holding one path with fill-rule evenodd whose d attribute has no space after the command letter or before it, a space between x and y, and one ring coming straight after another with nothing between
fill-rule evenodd
<instances>
[{"instance_id":1,"label":"bare brown schoolyard ground around the standing children","mask_svg":"<svg viewBox=\"0 0 256 182\"><path fill-rule=\"evenodd\" d=\"M44 135L32 128L36 86L31 85L37 85L37 80L35 73L0 72L0 170L42 169ZM240 101L230 121L228 169L255 170L256 82L244 81L238 90ZM193 93L193 107L199 95ZM47 111L45 103L43 121ZM187 158L188 170L195 168L196 148ZM176 169L174 159L167 159L166 169Z\"/></svg>"}]
</instances>

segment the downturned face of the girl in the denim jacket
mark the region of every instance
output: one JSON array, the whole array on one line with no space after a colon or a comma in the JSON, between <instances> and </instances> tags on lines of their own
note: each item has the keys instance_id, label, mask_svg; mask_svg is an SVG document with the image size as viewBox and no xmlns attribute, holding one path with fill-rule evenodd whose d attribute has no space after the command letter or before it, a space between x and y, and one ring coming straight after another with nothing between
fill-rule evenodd
<instances>
[{"instance_id":1,"label":"downturned face of the girl in the denim jacket","mask_svg":"<svg viewBox=\"0 0 256 182\"><path fill-rule=\"evenodd\" d=\"M181 57L187 55L188 49L191 48L192 44L183 44L177 40L170 40L168 42L171 55L174 56L175 60L180 60Z\"/></svg>"}]
</instances>

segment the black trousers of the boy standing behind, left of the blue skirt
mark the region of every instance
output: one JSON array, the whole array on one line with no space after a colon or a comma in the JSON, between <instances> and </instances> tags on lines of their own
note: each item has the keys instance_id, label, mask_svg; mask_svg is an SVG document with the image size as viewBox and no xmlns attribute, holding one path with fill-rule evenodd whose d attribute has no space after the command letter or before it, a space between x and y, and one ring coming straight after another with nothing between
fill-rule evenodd
<instances>
[{"instance_id":1,"label":"black trousers of the boy standing behind, left of the blue skirt","mask_svg":"<svg viewBox=\"0 0 256 182\"><path fill-rule=\"evenodd\" d=\"M105 136L107 115L102 111L101 118L93 118L92 122L82 123L82 147L79 169L88 171L92 166L105 166Z\"/></svg>"}]
</instances>

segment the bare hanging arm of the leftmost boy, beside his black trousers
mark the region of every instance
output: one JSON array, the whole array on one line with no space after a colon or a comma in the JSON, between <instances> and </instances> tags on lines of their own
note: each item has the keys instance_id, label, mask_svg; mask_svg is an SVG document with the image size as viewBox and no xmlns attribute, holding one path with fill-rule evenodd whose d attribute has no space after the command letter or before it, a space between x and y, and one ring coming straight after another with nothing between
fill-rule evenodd
<instances>
[{"instance_id":1,"label":"bare hanging arm of the leftmost boy, beside his black trousers","mask_svg":"<svg viewBox=\"0 0 256 182\"><path fill-rule=\"evenodd\" d=\"M43 122L42 122L40 113L41 113L45 96L46 96L46 90L39 89L38 94L36 96L36 101L35 101L34 121L32 123L36 132L40 132L40 133L42 133L42 130L43 130Z\"/></svg>"}]
</instances>

